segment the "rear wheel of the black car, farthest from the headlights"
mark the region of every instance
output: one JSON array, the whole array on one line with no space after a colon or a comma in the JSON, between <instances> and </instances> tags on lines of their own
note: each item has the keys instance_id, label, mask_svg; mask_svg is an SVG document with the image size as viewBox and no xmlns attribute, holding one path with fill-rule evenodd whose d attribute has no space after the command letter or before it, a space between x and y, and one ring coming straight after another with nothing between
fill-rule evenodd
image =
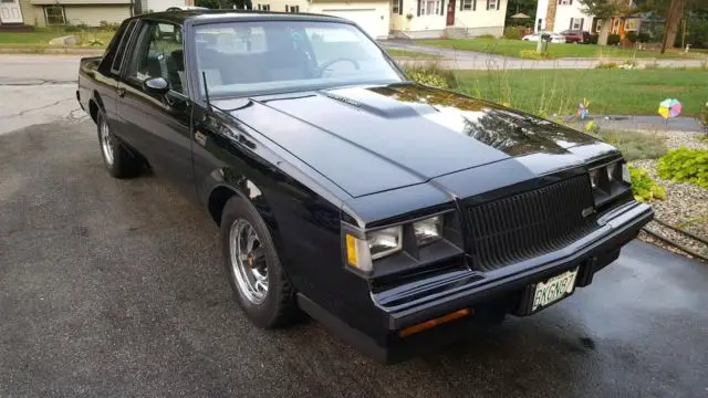
<instances>
[{"instance_id":1,"label":"rear wheel of the black car, farthest from the headlights","mask_svg":"<svg viewBox=\"0 0 708 398\"><path fill-rule=\"evenodd\" d=\"M106 128L106 134L102 134L102 129ZM143 169L143 161L133 156L128 149L116 138L111 132L111 127L106 123L103 111L98 111L96 115L96 133L98 134L98 148L101 149L101 156L103 157L103 164L108 170L108 174L114 178L131 178L140 174ZM106 145L111 148L111 153L104 148L105 136L108 136ZM112 158L110 158L110 156Z\"/></svg>"}]
</instances>

